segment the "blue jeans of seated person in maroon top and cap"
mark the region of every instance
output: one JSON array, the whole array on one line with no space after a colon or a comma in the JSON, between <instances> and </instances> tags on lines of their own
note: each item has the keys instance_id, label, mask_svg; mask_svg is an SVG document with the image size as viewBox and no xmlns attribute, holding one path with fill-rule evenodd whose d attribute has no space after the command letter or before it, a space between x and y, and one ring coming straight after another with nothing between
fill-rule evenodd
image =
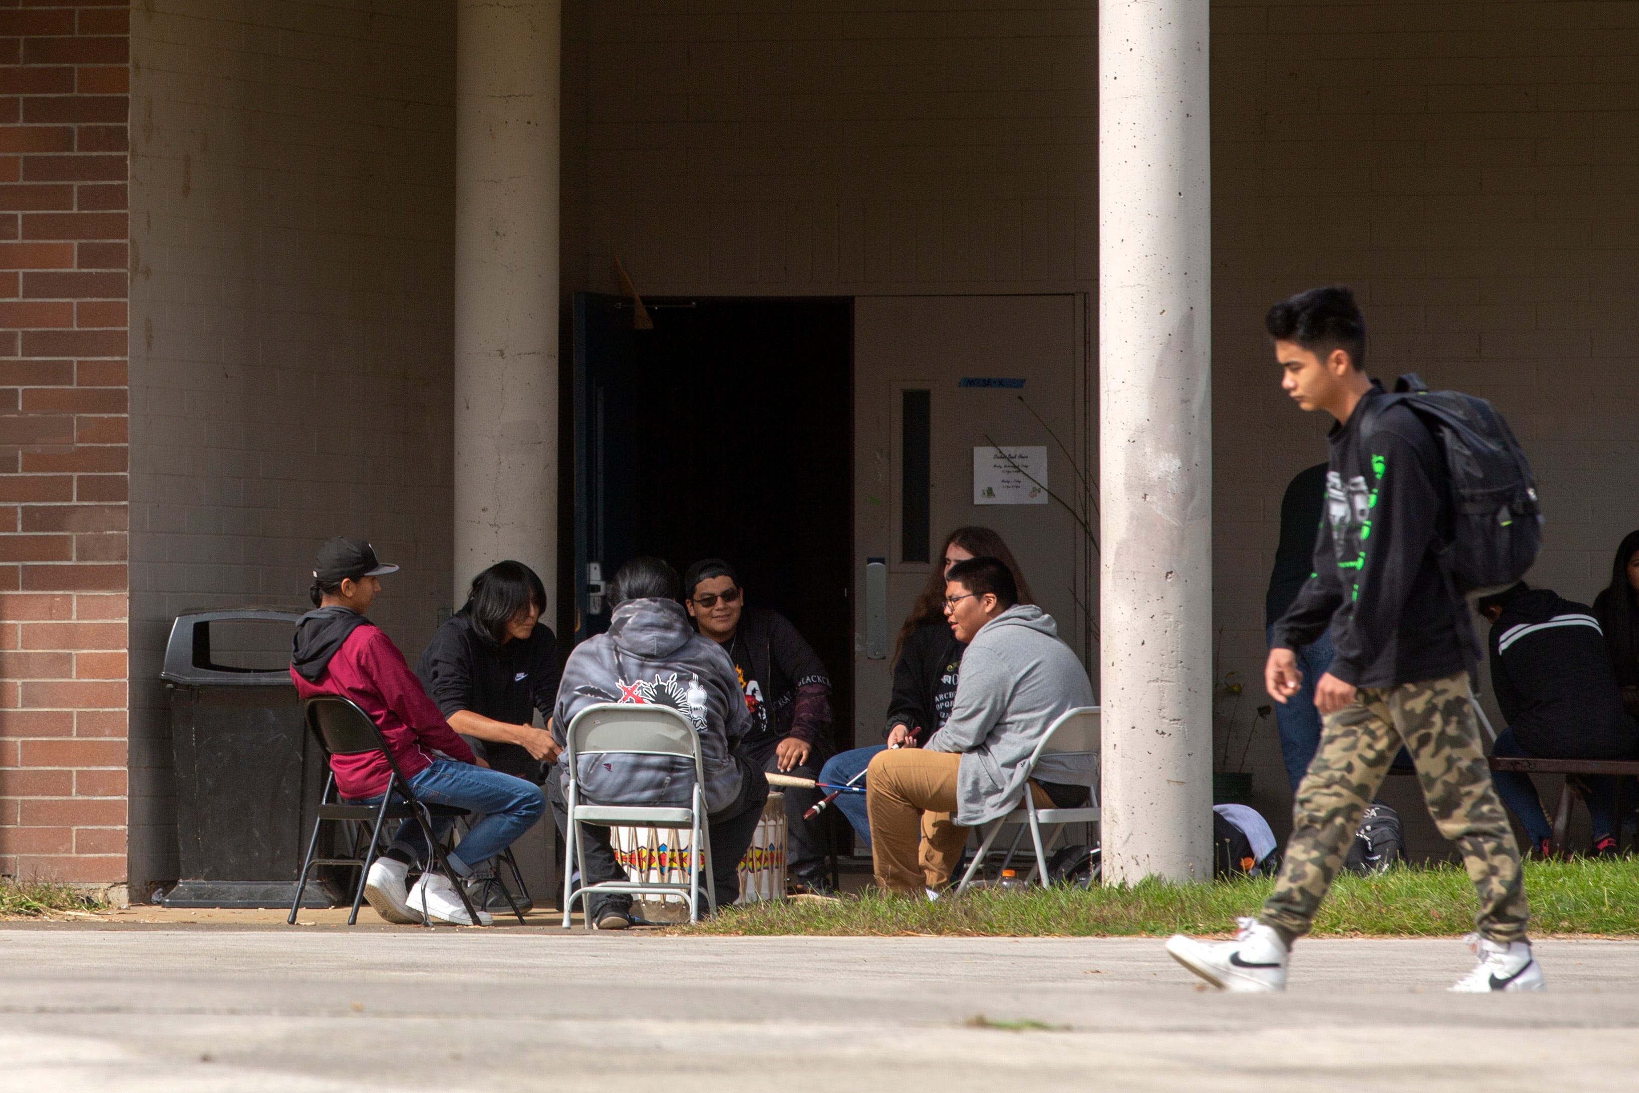
<instances>
[{"instance_id":1,"label":"blue jeans of seated person in maroon top and cap","mask_svg":"<svg viewBox=\"0 0 1639 1093\"><path fill-rule=\"evenodd\" d=\"M434 759L431 767L410 778L410 788L428 805L451 805L484 813L484 819L472 824L461 846L446 855L449 867L462 877L469 877L472 870L510 847L546 811L541 787L454 759ZM352 803L377 805L380 800L382 796L375 795ZM452 823L454 819L447 816L434 816L433 834L443 837ZM393 849L403 850L416 862L428 860L431 852L415 818L398 824Z\"/></svg>"}]
</instances>

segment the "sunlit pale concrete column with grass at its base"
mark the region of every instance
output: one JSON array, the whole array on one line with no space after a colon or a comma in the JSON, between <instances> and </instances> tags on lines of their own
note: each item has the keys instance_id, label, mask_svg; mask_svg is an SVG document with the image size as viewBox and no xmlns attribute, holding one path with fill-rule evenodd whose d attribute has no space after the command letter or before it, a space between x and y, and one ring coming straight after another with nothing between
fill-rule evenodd
<instances>
[{"instance_id":1,"label":"sunlit pale concrete column with grass at its base","mask_svg":"<svg viewBox=\"0 0 1639 1093\"><path fill-rule=\"evenodd\" d=\"M1103 869L1211 878L1208 0L1098 5Z\"/></svg>"}]
</instances>

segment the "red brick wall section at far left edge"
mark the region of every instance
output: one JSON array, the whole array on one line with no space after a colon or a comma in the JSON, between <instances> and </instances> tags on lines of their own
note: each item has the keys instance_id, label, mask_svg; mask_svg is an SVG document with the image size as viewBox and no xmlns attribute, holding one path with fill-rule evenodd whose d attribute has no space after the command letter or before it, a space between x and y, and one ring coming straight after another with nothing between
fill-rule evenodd
<instances>
[{"instance_id":1,"label":"red brick wall section at far left edge","mask_svg":"<svg viewBox=\"0 0 1639 1093\"><path fill-rule=\"evenodd\" d=\"M126 5L0 8L0 873L126 867Z\"/></svg>"}]
</instances>

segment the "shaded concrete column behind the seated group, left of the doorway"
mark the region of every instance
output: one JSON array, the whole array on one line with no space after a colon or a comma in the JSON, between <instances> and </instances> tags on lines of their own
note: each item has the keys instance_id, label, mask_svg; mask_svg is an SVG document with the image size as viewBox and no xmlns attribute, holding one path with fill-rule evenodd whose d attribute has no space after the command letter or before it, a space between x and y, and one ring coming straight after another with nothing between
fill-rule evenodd
<instances>
[{"instance_id":1,"label":"shaded concrete column behind the seated group, left of the doorway","mask_svg":"<svg viewBox=\"0 0 1639 1093\"><path fill-rule=\"evenodd\" d=\"M457 605L508 557L557 585L561 23L559 0L456 3Z\"/></svg>"}]
</instances>

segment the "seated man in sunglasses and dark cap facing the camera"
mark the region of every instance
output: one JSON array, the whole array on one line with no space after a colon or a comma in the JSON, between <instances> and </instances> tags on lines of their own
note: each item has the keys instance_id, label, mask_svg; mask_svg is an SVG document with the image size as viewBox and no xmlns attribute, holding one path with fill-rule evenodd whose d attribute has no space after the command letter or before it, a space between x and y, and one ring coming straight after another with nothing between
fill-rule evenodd
<instances>
[{"instance_id":1,"label":"seated man in sunglasses and dark cap facing the camera","mask_svg":"<svg viewBox=\"0 0 1639 1093\"><path fill-rule=\"evenodd\" d=\"M741 749L762 770L813 778L831 739L831 677L797 628L769 608L747 606L734 567L720 557L683 574L683 605L703 637L723 647L746 696L751 732ZM787 869L810 891L831 891L821 821L803 819L823 793L782 787Z\"/></svg>"}]
</instances>

